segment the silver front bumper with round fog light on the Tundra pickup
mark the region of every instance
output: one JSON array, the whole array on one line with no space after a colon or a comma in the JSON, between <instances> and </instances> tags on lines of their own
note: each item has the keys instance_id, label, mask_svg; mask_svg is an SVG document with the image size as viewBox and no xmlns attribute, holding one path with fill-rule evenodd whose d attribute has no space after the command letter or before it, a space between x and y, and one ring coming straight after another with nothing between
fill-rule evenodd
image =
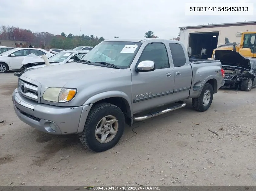
<instances>
[{"instance_id":1,"label":"silver front bumper with round fog light on the Tundra pickup","mask_svg":"<svg viewBox=\"0 0 256 191\"><path fill-rule=\"evenodd\" d=\"M26 124L49 134L75 134L83 131L91 105L58 107L37 103L21 96L17 88L12 93L15 113Z\"/></svg>"}]
</instances>

